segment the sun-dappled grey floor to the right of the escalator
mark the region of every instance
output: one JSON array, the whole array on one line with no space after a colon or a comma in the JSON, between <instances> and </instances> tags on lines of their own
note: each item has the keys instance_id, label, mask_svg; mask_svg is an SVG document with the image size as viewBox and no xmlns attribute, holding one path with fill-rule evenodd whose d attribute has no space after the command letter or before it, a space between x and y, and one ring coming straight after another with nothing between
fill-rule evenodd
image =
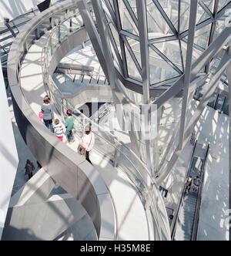
<instances>
[{"instance_id":1,"label":"sun-dappled grey floor to the right of the escalator","mask_svg":"<svg viewBox=\"0 0 231 256\"><path fill-rule=\"evenodd\" d=\"M199 133L199 130L203 130ZM227 241L229 229L229 116L206 107L196 133L210 143L199 217L199 241Z\"/></svg>"}]
</instances>

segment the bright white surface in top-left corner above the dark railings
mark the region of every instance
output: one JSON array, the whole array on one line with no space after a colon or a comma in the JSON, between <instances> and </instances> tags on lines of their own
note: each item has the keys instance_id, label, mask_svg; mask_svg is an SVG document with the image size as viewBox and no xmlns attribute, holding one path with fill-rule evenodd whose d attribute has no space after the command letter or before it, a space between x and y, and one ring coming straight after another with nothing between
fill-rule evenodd
<instances>
[{"instance_id":1,"label":"bright white surface in top-left corner above the dark railings","mask_svg":"<svg viewBox=\"0 0 231 256\"><path fill-rule=\"evenodd\" d=\"M28 12L30 9L38 5L44 0L0 0L0 22L3 22L3 17L14 19L18 15ZM52 0L54 3L57 0Z\"/></svg>"}]
</instances>

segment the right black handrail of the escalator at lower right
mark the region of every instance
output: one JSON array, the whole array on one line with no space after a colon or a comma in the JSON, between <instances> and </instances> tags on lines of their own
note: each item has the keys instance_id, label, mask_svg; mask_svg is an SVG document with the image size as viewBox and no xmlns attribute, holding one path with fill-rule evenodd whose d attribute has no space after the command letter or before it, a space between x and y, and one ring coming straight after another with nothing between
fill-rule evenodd
<instances>
[{"instance_id":1,"label":"right black handrail of the escalator at lower right","mask_svg":"<svg viewBox=\"0 0 231 256\"><path fill-rule=\"evenodd\" d=\"M208 147L207 147L207 150L206 150L206 156L205 156L205 159L203 161L203 166L202 166L201 172L200 172L201 185L199 186L199 190L198 190L198 197L197 197L196 209L195 209L195 214L194 214L194 221L193 221L193 226L192 226L191 241L196 241L196 237L197 237L198 224L199 224L199 209L200 209L200 205L201 205L203 180L204 180L204 176L205 176L204 175L204 168L206 166L206 160L207 160L208 153L209 153L209 147L210 147L210 144L208 144Z\"/></svg>"}]
</instances>

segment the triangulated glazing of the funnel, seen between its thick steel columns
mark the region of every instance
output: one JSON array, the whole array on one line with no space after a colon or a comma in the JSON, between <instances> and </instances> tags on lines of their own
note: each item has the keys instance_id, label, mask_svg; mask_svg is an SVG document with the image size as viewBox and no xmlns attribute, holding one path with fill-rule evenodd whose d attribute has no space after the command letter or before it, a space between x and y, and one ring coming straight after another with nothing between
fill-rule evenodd
<instances>
[{"instance_id":1,"label":"triangulated glazing of the funnel, seen between its thick steel columns","mask_svg":"<svg viewBox=\"0 0 231 256\"><path fill-rule=\"evenodd\" d=\"M136 0L102 0L111 32L112 53L126 78L142 81ZM225 29L229 0L199 0L192 60ZM146 0L150 86L172 83L186 64L190 0ZM214 19L216 17L216 19ZM117 54L116 54L117 53Z\"/></svg>"}]
</instances>

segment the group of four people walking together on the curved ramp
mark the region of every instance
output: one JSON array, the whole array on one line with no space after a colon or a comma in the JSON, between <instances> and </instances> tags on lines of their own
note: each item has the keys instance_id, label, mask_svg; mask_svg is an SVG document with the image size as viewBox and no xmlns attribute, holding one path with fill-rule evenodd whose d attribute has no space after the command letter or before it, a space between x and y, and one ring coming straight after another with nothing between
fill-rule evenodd
<instances>
[{"instance_id":1,"label":"group of four people walking together on the curved ramp","mask_svg":"<svg viewBox=\"0 0 231 256\"><path fill-rule=\"evenodd\" d=\"M68 109L67 112L67 118L62 121L64 127L62 126L62 123L59 119L55 119L54 116L54 109L51 104L51 99L47 95L43 99L43 105L41 106L41 112L39 113L39 117L43 119L43 122L45 123L45 126L51 130L52 133L55 133L55 135L59 138L59 140L63 141L63 138L65 136L65 133L68 138L68 143L74 143L75 137L73 135L73 128L74 128L74 117L73 112L71 109ZM85 130L85 135L82 136L81 139L81 148L83 149L81 152L84 152L85 159L89 161L89 163L92 164L91 160L89 159L89 154L94 147L95 143L95 136L94 133L92 133L91 126L87 127ZM79 150L79 147L78 147Z\"/></svg>"}]
</instances>

